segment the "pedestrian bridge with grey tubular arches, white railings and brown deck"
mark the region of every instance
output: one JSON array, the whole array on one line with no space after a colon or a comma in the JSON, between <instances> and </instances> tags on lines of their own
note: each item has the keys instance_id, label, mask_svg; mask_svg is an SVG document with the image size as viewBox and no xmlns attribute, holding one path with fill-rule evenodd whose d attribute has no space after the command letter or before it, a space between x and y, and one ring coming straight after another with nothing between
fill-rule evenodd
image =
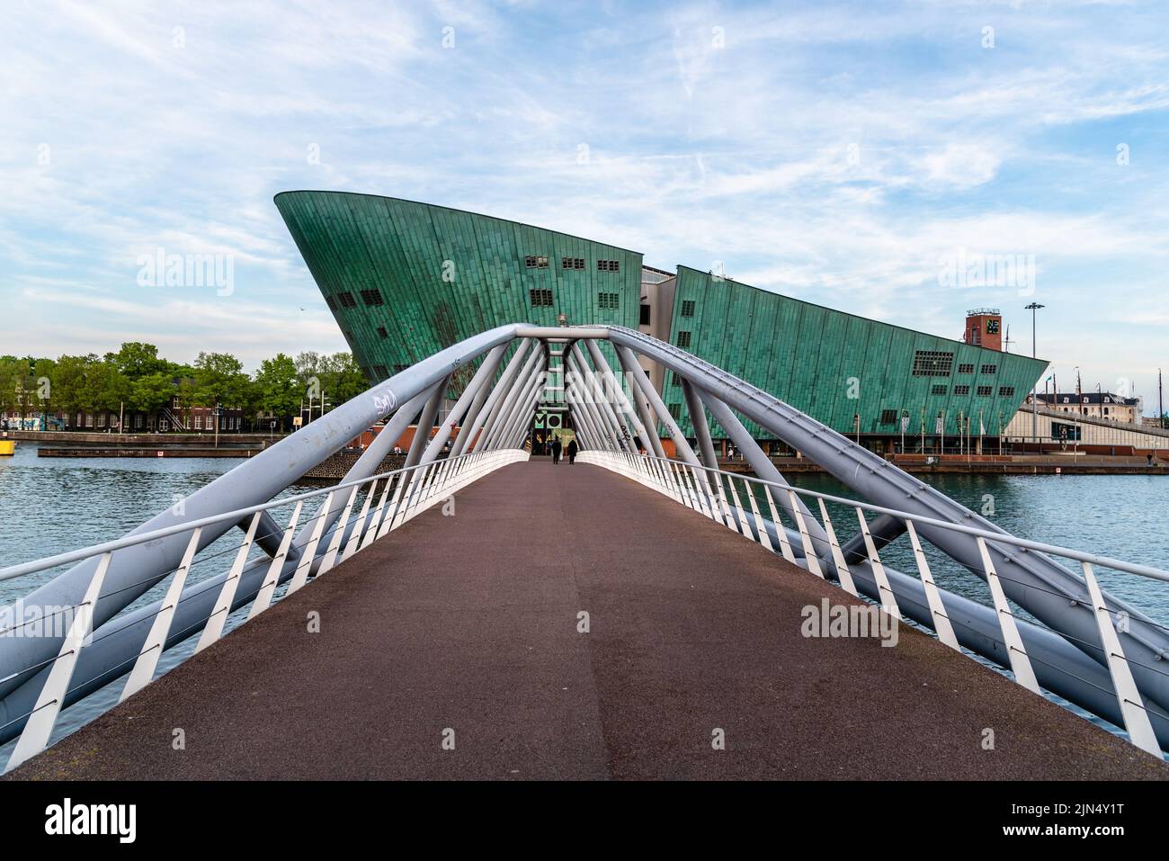
<instances>
[{"instance_id":1,"label":"pedestrian bridge with grey tubular arches, white railings and brown deck","mask_svg":"<svg viewBox=\"0 0 1169 861\"><path fill-rule=\"evenodd\" d=\"M1010 536L646 336L504 329L375 386L125 538L0 570L40 577L27 605L69 620L21 638L9 608L8 777L1169 777L1164 628L1098 573L1169 574ZM634 347L682 378L701 416L693 445ZM373 474L375 443L337 487L272 498L353 428L388 414L385 447L420 411L433 426L451 371L480 354L406 468ZM556 359L576 372L575 464L520 447L541 364ZM595 397L606 380L617 385ZM735 413L867 501L790 487ZM718 470L708 418L754 475ZM657 423L678 457L657 450ZM888 564L894 543L915 571ZM938 586L942 557L987 581L988 606ZM227 570L199 579L200 564ZM162 653L196 636L160 674ZM63 708L111 688L119 705L56 741Z\"/></svg>"}]
</instances>

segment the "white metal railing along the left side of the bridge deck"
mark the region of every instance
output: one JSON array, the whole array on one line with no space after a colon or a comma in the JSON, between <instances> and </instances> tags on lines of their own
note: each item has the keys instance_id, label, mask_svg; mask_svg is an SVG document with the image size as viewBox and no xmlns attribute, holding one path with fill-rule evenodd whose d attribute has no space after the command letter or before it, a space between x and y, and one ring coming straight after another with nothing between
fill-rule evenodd
<instances>
[{"instance_id":1,"label":"white metal railing along the left side of the bridge deck","mask_svg":"<svg viewBox=\"0 0 1169 861\"><path fill-rule=\"evenodd\" d=\"M11 770L16 765L20 765L29 757L44 750L48 745L53 729L56 725L57 716L61 708L64 705L68 694L70 693L69 682L72 677L74 668L77 666L81 652L83 648L91 645L91 636L94 634L94 607L102 593L102 584L105 579L105 573L110 567L110 562L113 558L115 552L118 550L136 544L157 540L167 536L184 532L191 533L191 538L187 543L186 551L182 555L182 560L179 563L179 566L173 572L165 572L157 578L151 578L152 580L161 581L167 576L173 573L173 578L167 586L166 594L159 605L159 609L154 614L153 622L151 624L146 640L143 643L143 648L139 650L133 661L133 668L130 670L125 688L122 691L122 700L124 701L126 697L148 684L154 677L159 659L166 648L167 640L171 638L172 622L174 620L175 611L182 600L181 597L187 581L187 576L196 562L206 562L206 559L196 560L195 558L200 552L199 542L202 530L206 526L212 524L222 524L223 522L243 523L244 518L250 516L243 542L236 547L233 547L236 551L235 559L231 563L231 567L228 571L227 577L220 586L214 608L207 619L207 624L203 626L199 643L195 647L195 653L207 648L223 634L227 617L231 612L233 606L237 602L236 590L238 587L244 565L248 562L249 552L257 540L256 531L261 524L264 512L278 507L293 507L288 525L276 533L281 536L279 546L276 553L271 557L268 572L261 584L260 591L253 600L251 608L244 621L250 621L271 606L276 594L276 587L282 579L282 576L285 574L284 562L288 558L293 533L296 532L300 514L306 501L321 496L324 497L319 510L309 521L309 523L312 524L312 529L309 532L307 542L303 547L300 547L299 562L291 576L289 587L284 593L285 597L292 594L305 585L314 565L317 569L314 577L319 578L332 570L337 564L345 562L354 553L365 550L373 542L379 538L383 538L390 531L399 529L427 509L450 497L452 494L466 487L471 482L510 463L526 461L527 457L527 453L520 449L496 449L489 452L475 452L471 454L459 455L457 457L435 460L426 464L382 473L367 478L340 482L328 488L296 494L284 498L274 500L261 505L251 505L233 511L223 511L221 514L188 521L174 526L152 530L140 535L131 535L117 540L104 542L92 546L82 547L81 550L57 553L56 556L46 557L35 562L0 569L0 580L8 580L37 571L46 571L48 569L56 567L57 565L98 557L97 567L89 581L82 601L72 607L57 608L57 612L69 612L71 615L68 633L65 634L64 642L62 643L58 654L49 661L44 661L33 667L27 667L19 673L9 675L7 679L0 680L0 682L9 681L11 679L21 676L26 673L41 671L46 667L49 668L48 677L44 686L41 688L35 707L27 714L19 715L6 724L7 726L27 718L27 723L16 741L16 745L12 752L12 757L8 760L6 770ZM380 493L379 484L381 484ZM366 495L360 514L355 517L351 517L358 494L362 488L366 489ZM338 494L343 493L346 494L345 508L338 517L336 524L326 530L325 522L332 515L333 500ZM375 498L376 504L374 504ZM372 514L371 508L373 509ZM348 539L343 546L343 538L350 526L352 526L352 529L350 530ZM263 537L275 536L269 535ZM203 550L207 549L205 547ZM224 551L217 551L210 555L209 558L221 556L223 552ZM9 627L0 629L0 636L19 635L19 628L28 624L29 622L16 624L14 621ZM193 631L184 631L179 633L186 634L193 633Z\"/></svg>"}]
</instances>

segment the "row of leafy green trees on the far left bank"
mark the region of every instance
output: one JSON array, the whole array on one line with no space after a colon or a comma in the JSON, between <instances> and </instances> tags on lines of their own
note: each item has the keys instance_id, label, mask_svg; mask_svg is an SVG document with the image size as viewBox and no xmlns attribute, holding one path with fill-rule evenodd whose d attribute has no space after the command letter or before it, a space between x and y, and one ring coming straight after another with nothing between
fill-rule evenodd
<instances>
[{"instance_id":1,"label":"row of leafy green trees on the far left bank","mask_svg":"<svg viewBox=\"0 0 1169 861\"><path fill-rule=\"evenodd\" d=\"M180 411L219 405L248 418L271 415L283 429L310 398L316 414L323 400L326 406L344 404L367 387L347 352L279 352L261 361L254 374L230 353L200 352L185 364L160 357L157 346L143 342L126 342L104 356L0 356L0 413L21 419L101 411L153 414L177 397Z\"/></svg>"}]
</instances>

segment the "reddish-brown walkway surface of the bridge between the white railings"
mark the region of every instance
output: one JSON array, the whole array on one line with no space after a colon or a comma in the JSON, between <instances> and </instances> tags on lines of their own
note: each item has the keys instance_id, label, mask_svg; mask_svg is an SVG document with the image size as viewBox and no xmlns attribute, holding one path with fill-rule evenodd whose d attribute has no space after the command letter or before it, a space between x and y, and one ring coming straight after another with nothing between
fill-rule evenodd
<instances>
[{"instance_id":1,"label":"reddish-brown walkway surface of the bridge between the white railings","mask_svg":"<svg viewBox=\"0 0 1169 861\"><path fill-rule=\"evenodd\" d=\"M1169 777L907 627L804 638L822 598L850 602L634 482L514 464L7 777Z\"/></svg>"}]
</instances>

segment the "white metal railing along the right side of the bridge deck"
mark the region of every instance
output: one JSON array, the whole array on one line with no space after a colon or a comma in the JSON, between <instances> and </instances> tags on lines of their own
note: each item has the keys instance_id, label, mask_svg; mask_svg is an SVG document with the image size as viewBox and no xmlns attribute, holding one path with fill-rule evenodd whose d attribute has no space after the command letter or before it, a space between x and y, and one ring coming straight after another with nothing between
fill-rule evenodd
<instances>
[{"instance_id":1,"label":"white metal railing along the right side of the bridge deck","mask_svg":"<svg viewBox=\"0 0 1169 861\"><path fill-rule=\"evenodd\" d=\"M781 505L781 508L784 508L789 512L789 518L795 524L795 531L800 537L800 545L808 571L822 579L826 579L821 565L822 559L812 544L812 539L809 533L809 525L805 519L805 517L811 516L810 511L801 504L802 497L816 500L819 508L821 519L823 522L823 530L830 545L832 566L835 567L841 587L859 598L860 594L857 591L852 572L850 571L848 562L844 558L841 544L836 538L835 526L829 517L825 503L831 502L852 508L857 514L859 535L864 542L866 562L869 562L872 570L873 580L880 597L881 608L899 619L901 618L901 613L897 604L897 595L890 585L888 577L885 572L884 564L880 560L873 536L870 533L869 521L865 517L865 512L887 515L901 519L905 523L906 532L909 537L913 557L916 562L918 573L920 574L921 584L928 602L933 628L938 634L938 638L943 643L960 653L962 649L959 646L957 638L954 634L954 627L950 624L949 618L946 615L945 606L942 604L942 590L939 590L936 583L934 581L929 563L918 537L916 528L922 525L938 526L973 536L977 542L983 571L987 577L987 584L990 587L991 600L994 601L994 608L998 620L1003 643L1007 648L1011 673L1019 684L1035 694L1042 695L1039 683L1031 666L1031 660L1028 656L1026 648L1024 647L1023 638L1019 635L1015 613L1003 593L1001 584L1002 577L995 570L995 565L990 559L990 553L987 550L985 543L990 540L998 544L1011 544L1026 549L1028 551L1050 553L1078 562L1080 564L1086 590L1086 600L1081 601L1081 604L1088 606L1094 613L1097 627L1100 634L1100 647L1104 648L1108 673L1112 677L1113 689L1120 705L1125 729L1133 744L1158 758L1163 758L1161 745L1157 742L1156 735L1153 730L1153 724L1149 719L1149 712L1133 679L1129 659L1125 656L1125 652L1121 647L1120 638L1118 636L1115 627L1116 622L1113 619L1112 612L1105 605L1100 586L1097 583L1094 567L1107 567L1115 571L1161 580L1163 583L1169 583L1169 571L1154 569L1147 565L1127 563L1121 559L1113 559L1111 557L1099 556L1095 553L1085 553L1053 544L1033 542L1026 538L1017 538L1007 533L966 526L957 523L950 523L948 521L940 521L908 511L898 511L881 505L872 505L870 503L833 496L831 494L794 488L755 476L732 474L710 467L694 466L678 460L669 460L652 455L634 455L628 453L601 450L581 452L577 455L577 459L582 463L593 463L595 466L603 467L637 481L645 487L657 490L658 493L669 496L675 502L686 505L687 508L691 508L694 511L726 525L728 529L758 542L772 552L781 555L787 562L798 564L796 555L793 551L791 542L788 539L787 531L780 519L779 508L775 503L776 496L782 494L783 496L781 498L786 504ZM739 488L735 487L736 482L740 485ZM743 508L745 502L750 509L749 515ZM767 505L768 510L766 512L766 517L761 511L761 503L766 503ZM767 529L768 522L770 522L774 526L775 542L773 542L770 531ZM775 546L776 543L779 546ZM1063 636L1067 635L1065 634ZM1099 648L1094 643L1090 645ZM1142 666L1147 667L1147 664Z\"/></svg>"}]
</instances>

